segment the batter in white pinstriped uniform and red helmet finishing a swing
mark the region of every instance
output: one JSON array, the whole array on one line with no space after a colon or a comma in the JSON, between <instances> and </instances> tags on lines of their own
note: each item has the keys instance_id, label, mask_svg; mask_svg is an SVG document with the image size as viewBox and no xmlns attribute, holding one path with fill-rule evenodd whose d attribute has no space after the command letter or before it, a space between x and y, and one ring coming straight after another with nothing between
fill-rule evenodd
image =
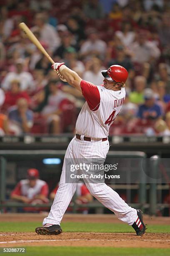
<instances>
[{"instance_id":1,"label":"batter in white pinstriped uniform and red helmet finishing a swing","mask_svg":"<svg viewBox=\"0 0 170 256\"><path fill-rule=\"evenodd\" d=\"M104 159L109 150L109 128L122 108L125 100L125 82L128 71L119 65L112 65L102 71L103 84L96 86L82 80L78 74L67 68L64 63L54 63L52 68L60 79L77 88L85 97L85 104L80 111L76 123L76 135L70 142L65 153L60 186L43 227L35 232L40 235L58 235L62 232L60 221L76 190L76 183L66 180L67 159L77 164L77 159ZM128 206L112 188L104 182L88 182L84 179L91 195L105 207L115 213L118 219L132 225L137 236L145 233L145 224L141 210Z\"/></svg>"}]
</instances>

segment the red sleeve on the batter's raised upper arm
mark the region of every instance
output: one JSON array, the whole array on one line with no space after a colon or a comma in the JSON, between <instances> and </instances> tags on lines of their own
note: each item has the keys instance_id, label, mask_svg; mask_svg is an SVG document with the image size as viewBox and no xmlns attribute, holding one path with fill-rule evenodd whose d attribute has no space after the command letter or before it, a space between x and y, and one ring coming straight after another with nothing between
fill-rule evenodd
<instances>
[{"instance_id":1,"label":"red sleeve on the batter's raised upper arm","mask_svg":"<svg viewBox=\"0 0 170 256\"><path fill-rule=\"evenodd\" d=\"M84 80L81 81L80 86L90 110L96 111L100 106L100 92L97 86Z\"/></svg>"}]
</instances>

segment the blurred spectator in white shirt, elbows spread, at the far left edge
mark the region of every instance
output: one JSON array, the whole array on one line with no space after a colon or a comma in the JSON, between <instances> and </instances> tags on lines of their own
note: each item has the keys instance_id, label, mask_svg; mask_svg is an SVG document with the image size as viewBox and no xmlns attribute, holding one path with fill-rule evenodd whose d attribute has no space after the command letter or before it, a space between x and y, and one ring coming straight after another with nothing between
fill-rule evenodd
<instances>
[{"instance_id":1,"label":"blurred spectator in white shirt, elbows spread, at the far left edge","mask_svg":"<svg viewBox=\"0 0 170 256\"><path fill-rule=\"evenodd\" d=\"M32 74L30 74L29 72L23 71L23 62L24 62L23 59L18 59L15 62L16 72L7 73L1 85L1 87L4 90L7 91L10 89L10 84L11 84L11 81L13 80L20 81L20 85L21 85L20 88L22 91L26 91L26 90L31 91L34 89Z\"/></svg>"}]
</instances>

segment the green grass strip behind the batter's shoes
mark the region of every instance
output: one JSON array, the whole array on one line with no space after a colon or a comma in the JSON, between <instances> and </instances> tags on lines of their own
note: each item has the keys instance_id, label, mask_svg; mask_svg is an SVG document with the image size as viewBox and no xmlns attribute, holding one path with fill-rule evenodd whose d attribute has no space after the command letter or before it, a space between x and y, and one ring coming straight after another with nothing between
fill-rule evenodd
<instances>
[{"instance_id":1,"label":"green grass strip behind the batter's shoes","mask_svg":"<svg viewBox=\"0 0 170 256\"><path fill-rule=\"evenodd\" d=\"M0 232L34 232L40 227L40 222L0 222ZM64 232L102 232L102 233L127 233L134 230L124 223L80 223L65 222L61 224ZM170 233L168 225L149 225L148 233Z\"/></svg>"}]
</instances>

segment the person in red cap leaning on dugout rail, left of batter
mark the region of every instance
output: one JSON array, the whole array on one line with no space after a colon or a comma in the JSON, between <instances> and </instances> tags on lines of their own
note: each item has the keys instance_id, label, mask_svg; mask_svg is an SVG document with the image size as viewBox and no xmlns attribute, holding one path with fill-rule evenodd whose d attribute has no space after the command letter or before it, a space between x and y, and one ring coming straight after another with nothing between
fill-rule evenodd
<instances>
[{"instance_id":1,"label":"person in red cap leaning on dugout rail, left of batter","mask_svg":"<svg viewBox=\"0 0 170 256\"><path fill-rule=\"evenodd\" d=\"M27 212L34 212L46 210L42 207L31 207L31 205L38 205L48 203L48 185L45 181L39 179L39 171L37 169L27 170L27 179L22 179L14 190L11 192L11 199L19 202L30 204L30 207L24 207L23 210Z\"/></svg>"}]
</instances>

